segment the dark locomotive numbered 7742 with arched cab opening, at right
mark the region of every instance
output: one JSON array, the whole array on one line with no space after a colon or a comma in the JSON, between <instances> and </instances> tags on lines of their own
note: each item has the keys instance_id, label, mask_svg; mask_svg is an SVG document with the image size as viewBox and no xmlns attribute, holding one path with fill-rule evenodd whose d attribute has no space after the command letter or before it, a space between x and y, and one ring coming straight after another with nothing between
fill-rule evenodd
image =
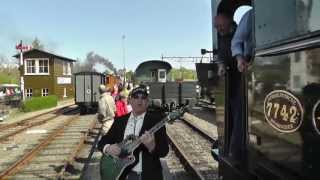
<instances>
[{"instance_id":1,"label":"dark locomotive numbered 7742 with arched cab opening, at right","mask_svg":"<svg viewBox=\"0 0 320 180\"><path fill-rule=\"evenodd\" d=\"M253 7L255 56L241 80L242 161L228 158L233 122L228 76L214 86L219 139L213 148L225 180L319 179L320 1L212 0L212 15ZM272 12L272 13L270 13ZM219 36L213 29L213 49ZM217 74L216 68L212 71Z\"/></svg>"}]
</instances>

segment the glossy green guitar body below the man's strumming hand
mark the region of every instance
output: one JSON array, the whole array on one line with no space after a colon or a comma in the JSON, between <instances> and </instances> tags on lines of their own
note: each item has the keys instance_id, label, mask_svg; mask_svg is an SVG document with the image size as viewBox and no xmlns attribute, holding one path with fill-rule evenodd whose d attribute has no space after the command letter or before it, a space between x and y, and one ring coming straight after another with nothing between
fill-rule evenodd
<instances>
[{"instance_id":1,"label":"glossy green guitar body below the man's strumming hand","mask_svg":"<svg viewBox=\"0 0 320 180\"><path fill-rule=\"evenodd\" d=\"M110 155L102 155L100 160L100 175L102 180L120 180L125 176L125 169L134 163L134 156L114 158Z\"/></svg>"}]
</instances>

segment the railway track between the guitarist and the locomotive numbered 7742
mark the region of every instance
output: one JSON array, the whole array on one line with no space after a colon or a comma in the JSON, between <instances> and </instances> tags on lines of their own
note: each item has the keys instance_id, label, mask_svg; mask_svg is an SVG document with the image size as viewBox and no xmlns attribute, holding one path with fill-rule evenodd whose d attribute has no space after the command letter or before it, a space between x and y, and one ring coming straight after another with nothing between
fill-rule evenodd
<instances>
[{"instance_id":1,"label":"railway track between the guitarist and the locomotive numbered 7742","mask_svg":"<svg viewBox=\"0 0 320 180\"><path fill-rule=\"evenodd\" d=\"M219 179L218 162L210 154L214 141L212 135L192 121L185 120L167 125L167 134L173 150L197 179Z\"/></svg>"}]
</instances>

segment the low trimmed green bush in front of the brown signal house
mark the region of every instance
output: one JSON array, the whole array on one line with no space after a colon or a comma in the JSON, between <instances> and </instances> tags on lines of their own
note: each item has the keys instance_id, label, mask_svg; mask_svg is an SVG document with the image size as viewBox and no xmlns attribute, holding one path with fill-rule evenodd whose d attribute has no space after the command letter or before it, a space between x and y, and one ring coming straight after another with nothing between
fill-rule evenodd
<instances>
[{"instance_id":1,"label":"low trimmed green bush in front of the brown signal house","mask_svg":"<svg viewBox=\"0 0 320 180\"><path fill-rule=\"evenodd\" d=\"M22 103L21 109L23 112L36 111L57 106L57 96L32 97Z\"/></svg>"}]
</instances>

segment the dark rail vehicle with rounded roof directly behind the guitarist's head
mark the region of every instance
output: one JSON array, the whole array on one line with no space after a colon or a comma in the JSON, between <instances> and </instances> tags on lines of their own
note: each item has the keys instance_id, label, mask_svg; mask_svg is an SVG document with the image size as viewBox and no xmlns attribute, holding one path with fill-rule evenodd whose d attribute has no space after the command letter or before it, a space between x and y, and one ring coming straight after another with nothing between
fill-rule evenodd
<instances>
[{"instance_id":1,"label":"dark rail vehicle with rounded roof directly behind the guitarist's head","mask_svg":"<svg viewBox=\"0 0 320 180\"><path fill-rule=\"evenodd\" d=\"M135 70L135 83L147 86L152 105L172 108L187 102L190 105L197 103L198 82L170 81L168 74L171 69L171 65L165 61L145 61Z\"/></svg>"}]
</instances>

